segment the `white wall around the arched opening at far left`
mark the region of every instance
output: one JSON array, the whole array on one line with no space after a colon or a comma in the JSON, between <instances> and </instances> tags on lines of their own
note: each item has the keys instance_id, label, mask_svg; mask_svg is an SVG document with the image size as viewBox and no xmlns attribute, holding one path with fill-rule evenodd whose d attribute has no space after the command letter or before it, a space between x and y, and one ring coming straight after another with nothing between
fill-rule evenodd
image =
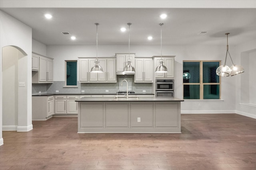
<instances>
[{"instance_id":1,"label":"white wall around the arched opening at far left","mask_svg":"<svg viewBox=\"0 0 256 170\"><path fill-rule=\"evenodd\" d=\"M0 66L2 68L2 48L14 46L22 52L21 72L18 81L25 82L26 87L18 88L18 129L28 131L32 129L32 85L31 85L31 55L32 29L24 23L0 10ZM2 139L2 69L0 70L0 145Z\"/></svg>"}]
</instances>

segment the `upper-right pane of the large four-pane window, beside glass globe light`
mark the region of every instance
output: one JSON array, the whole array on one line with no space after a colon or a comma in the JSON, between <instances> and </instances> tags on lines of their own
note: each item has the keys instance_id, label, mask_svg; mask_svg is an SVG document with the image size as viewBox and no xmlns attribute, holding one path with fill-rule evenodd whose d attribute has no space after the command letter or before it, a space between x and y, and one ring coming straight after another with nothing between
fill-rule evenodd
<instances>
[{"instance_id":1,"label":"upper-right pane of the large four-pane window, beside glass globe light","mask_svg":"<svg viewBox=\"0 0 256 170\"><path fill-rule=\"evenodd\" d=\"M219 62L203 62L203 83L218 83L220 76L216 74Z\"/></svg>"}]
</instances>

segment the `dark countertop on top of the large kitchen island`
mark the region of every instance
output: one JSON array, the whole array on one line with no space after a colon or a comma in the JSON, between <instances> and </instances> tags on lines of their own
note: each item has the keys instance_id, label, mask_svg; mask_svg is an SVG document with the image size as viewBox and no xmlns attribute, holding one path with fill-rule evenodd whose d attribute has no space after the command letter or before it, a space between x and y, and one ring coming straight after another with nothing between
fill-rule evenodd
<instances>
[{"instance_id":1,"label":"dark countertop on top of the large kitchen island","mask_svg":"<svg viewBox=\"0 0 256 170\"><path fill-rule=\"evenodd\" d=\"M131 98L124 98L119 97L118 98L114 98L114 97L83 97L80 98L78 100L76 100L76 102L135 102L135 101L139 101L139 102L158 102L158 101L168 101L168 102L183 102L184 100L179 99L179 98L170 98L170 97L131 97Z\"/></svg>"}]
</instances>

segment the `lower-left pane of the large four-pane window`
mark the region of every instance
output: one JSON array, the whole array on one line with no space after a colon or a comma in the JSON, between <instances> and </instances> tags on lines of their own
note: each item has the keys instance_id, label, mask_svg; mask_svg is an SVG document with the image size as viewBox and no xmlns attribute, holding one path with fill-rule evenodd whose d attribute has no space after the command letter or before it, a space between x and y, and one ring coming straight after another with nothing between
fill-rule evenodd
<instances>
[{"instance_id":1,"label":"lower-left pane of the large four-pane window","mask_svg":"<svg viewBox=\"0 0 256 170\"><path fill-rule=\"evenodd\" d=\"M200 99L200 85L184 85L184 99Z\"/></svg>"}]
</instances>

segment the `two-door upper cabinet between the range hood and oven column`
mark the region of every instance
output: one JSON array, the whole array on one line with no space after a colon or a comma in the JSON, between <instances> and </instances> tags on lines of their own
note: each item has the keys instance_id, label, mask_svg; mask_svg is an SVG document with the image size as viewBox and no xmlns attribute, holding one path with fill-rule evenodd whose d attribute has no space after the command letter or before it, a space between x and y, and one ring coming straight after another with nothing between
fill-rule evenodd
<instances>
[{"instance_id":1,"label":"two-door upper cabinet between the range hood and oven column","mask_svg":"<svg viewBox=\"0 0 256 170\"><path fill-rule=\"evenodd\" d=\"M135 59L135 81L134 82L153 82L153 59L136 58Z\"/></svg>"}]
</instances>

